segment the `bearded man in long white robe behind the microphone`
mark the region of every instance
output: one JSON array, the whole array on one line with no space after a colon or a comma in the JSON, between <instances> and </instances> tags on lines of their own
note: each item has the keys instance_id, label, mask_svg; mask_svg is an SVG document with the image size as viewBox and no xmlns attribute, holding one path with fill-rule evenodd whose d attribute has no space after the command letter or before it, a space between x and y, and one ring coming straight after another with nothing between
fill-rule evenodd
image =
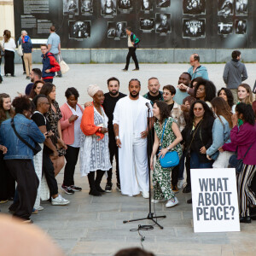
<instances>
[{"instance_id":1,"label":"bearded man in long white robe behind the microphone","mask_svg":"<svg viewBox=\"0 0 256 256\"><path fill-rule=\"evenodd\" d=\"M140 81L131 79L130 95L119 99L114 108L113 131L119 147L121 193L132 196L142 192L148 198L148 107L150 125L153 119L150 101L139 95L140 90Z\"/></svg>"}]
</instances>

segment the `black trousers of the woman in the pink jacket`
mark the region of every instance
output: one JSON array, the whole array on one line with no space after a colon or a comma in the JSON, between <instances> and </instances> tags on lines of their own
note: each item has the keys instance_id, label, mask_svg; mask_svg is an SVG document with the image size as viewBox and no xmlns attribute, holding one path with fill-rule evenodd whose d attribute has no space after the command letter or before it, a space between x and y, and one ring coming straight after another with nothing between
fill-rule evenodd
<instances>
[{"instance_id":1,"label":"black trousers of the woman in the pink jacket","mask_svg":"<svg viewBox=\"0 0 256 256\"><path fill-rule=\"evenodd\" d=\"M67 151L65 154L67 163L64 169L64 179L63 179L64 186L69 187L71 185L74 185L73 174L75 172L76 164L79 158L79 149L80 148L73 148L67 145Z\"/></svg>"}]
</instances>

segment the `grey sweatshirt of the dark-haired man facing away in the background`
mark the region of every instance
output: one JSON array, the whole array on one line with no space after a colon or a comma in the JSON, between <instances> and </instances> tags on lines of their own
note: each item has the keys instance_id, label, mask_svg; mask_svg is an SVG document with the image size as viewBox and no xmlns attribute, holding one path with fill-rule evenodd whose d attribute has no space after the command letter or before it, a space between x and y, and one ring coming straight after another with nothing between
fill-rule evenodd
<instances>
[{"instance_id":1,"label":"grey sweatshirt of the dark-haired man facing away in the background","mask_svg":"<svg viewBox=\"0 0 256 256\"><path fill-rule=\"evenodd\" d=\"M229 89L236 89L247 78L247 68L240 61L232 60L225 65L223 79Z\"/></svg>"}]
</instances>

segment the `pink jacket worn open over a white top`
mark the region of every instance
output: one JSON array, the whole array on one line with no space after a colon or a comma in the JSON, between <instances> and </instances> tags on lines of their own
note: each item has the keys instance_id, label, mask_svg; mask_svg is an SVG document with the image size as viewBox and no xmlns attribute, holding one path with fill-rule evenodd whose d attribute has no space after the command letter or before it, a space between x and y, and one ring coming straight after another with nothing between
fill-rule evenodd
<instances>
[{"instance_id":1,"label":"pink jacket worn open over a white top","mask_svg":"<svg viewBox=\"0 0 256 256\"><path fill-rule=\"evenodd\" d=\"M84 109L78 104L79 108L81 109L82 113ZM72 145L74 142L74 122L71 124L69 123L68 119L72 116L71 109L67 106L67 103L64 103L61 106L61 115L62 118L61 122L61 131L62 131L62 139L64 143L67 145Z\"/></svg>"}]
</instances>

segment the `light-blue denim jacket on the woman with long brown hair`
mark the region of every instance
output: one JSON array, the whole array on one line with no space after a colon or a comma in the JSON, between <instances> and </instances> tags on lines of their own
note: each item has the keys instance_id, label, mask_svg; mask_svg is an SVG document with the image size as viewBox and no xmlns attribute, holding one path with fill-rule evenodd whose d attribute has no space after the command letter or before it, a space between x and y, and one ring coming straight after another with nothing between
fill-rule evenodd
<instances>
[{"instance_id":1,"label":"light-blue denim jacket on the woman with long brown hair","mask_svg":"<svg viewBox=\"0 0 256 256\"><path fill-rule=\"evenodd\" d=\"M212 126L212 146L207 149L208 155L214 154L224 143L230 143L230 124L222 115L219 118L222 123L217 118Z\"/></svg>"}]
</instances>

